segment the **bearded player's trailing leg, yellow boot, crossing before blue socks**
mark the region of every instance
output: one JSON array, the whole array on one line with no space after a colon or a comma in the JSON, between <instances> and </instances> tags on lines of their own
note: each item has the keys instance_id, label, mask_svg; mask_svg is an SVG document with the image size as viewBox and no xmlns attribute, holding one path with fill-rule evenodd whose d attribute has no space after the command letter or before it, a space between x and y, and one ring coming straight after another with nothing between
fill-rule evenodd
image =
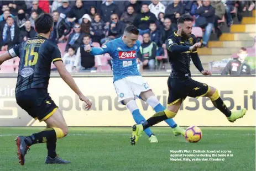
<instances>
[{"instance_id":1,"label":"bearded player's trailing leg, yellow boot, crossing before blue socks","mask_svg":"<svg viewBox=\"0 0 256 171\"><path fill-rule=\"evenodd\" d=\"M131 145L135 145L138 142L139 136L143 130L148 129L150 126L158 124L163 120L173 118L177 114L177 111L179 111L181 103L182 100L178 100L175 104L168 106L168 108L164 111L155 113L143 124L133 125L133 132L132 136L130 137Z\"/></svg>"}]
</instances>

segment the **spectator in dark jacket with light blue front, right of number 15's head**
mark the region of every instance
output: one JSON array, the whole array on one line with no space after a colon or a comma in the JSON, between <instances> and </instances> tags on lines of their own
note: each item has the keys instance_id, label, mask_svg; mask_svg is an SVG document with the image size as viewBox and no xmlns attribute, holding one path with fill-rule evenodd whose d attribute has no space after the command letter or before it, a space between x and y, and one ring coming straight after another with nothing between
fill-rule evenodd
<instances>
[{"instance_id":1,"label":"spectator in dark jacket with light blue front, right of number 15's head","mask_svg":"<svg viewBox=\"0 0 256 171\"><path fill-rule=\"evenodd\" d=\"M69 35L69 39L67 40L65 52L69 49L69 47L74 47L75 51L82 44L82 39L85 33L82 33L80 24L76 23L74 25L74 31Z\"/></svg>"}]
</instances>

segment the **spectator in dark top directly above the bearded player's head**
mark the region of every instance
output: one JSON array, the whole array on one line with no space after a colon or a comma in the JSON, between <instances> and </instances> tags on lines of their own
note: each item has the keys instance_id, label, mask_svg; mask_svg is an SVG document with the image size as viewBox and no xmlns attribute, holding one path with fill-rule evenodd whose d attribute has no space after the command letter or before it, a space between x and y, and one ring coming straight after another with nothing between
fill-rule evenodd
<instances>
[{"instance_id":1,"label":"spectator in dark top directly above the bearded player's head","mask_svg":"<svg viewBox=\"0 0 256 171\"><path fill-rule=\"evenodd\" d=\"M176 18L180 17L182 14L184 14L184 8L179 0L174 0L173 3L165 9L165 16L169 17L173 23L176 23Z\"/></svg>"}]
</instances>

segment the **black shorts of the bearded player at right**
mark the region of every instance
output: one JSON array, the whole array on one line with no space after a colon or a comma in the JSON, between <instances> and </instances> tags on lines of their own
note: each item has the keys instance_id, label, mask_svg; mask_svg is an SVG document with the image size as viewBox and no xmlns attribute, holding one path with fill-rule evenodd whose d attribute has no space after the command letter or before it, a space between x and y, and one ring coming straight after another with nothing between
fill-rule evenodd
<instances>
[{"instance_id":1,"label":"black shorts of the bearded player at right","mask_svg":"<svg viewBox=\"0 0 256 171\"><path fill-rule=\"evenodd\" d=\"M168 79L168 105L173 105L179 100L185 100L187 96L197 98L206 95L210 88L205 83L197 82L191 78L182 80L177 78Z\"/></svg>"}]
</instances>

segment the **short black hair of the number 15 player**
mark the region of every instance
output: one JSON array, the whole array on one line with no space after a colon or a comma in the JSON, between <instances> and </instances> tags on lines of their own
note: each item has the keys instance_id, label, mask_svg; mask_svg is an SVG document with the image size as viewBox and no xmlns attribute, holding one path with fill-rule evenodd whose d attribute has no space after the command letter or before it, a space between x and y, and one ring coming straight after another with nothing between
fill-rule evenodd
<instances>
[{"instance_id":1,"label":"short black hair of the number 15 player","mask_svg":"<svg viewBox=\"0 0 256 171\"><path fill-rule=\"evenodd\" d=\"M35 29L37 33L48 33L53 27L53 17L50 14L40 14L35 19Z\"/></svg>"}]
</instances>

